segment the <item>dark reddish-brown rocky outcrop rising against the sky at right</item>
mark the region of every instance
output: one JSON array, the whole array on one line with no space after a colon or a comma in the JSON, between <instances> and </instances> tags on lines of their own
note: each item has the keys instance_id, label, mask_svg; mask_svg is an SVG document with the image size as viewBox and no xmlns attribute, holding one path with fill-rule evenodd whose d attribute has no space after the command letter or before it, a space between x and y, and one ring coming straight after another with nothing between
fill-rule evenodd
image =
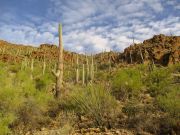
<instances>
[{"instance_id":1,"label":"dark reddish-brown rocky outcrop rising against the sky at right","mask_svg":"<svg viewBox=\"0 0 180 135\"><path fill-rule=\"evenodd\" d=\"M167 66L180 62L180 36L155 35L143 43L134 44L119 56L127 63L154 62Z\"/></svg>"}]
</instances>

